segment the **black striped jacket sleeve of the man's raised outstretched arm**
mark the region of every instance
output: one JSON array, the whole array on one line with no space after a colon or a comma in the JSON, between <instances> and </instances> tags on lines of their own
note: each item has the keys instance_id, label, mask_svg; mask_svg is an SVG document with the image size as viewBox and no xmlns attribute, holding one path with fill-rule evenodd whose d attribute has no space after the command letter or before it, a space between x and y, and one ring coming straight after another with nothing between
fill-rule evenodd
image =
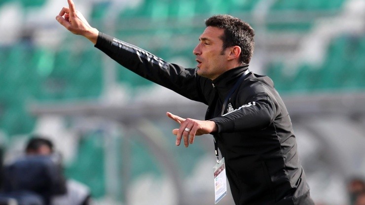
<instances>
[{"instance_id":1,"label":"black striped jacket sleeve of the man's raised outstretched arm","mask_svg":"<svg viewBox=\"0 0 365 205\"><path fill-rule=\"evenodd\" d=\"M163 59L137 46L99 33L95 47L111 59L136 74L164 86L184 97L206 103L201 86L205 84L194 68L183 68L170 64Z\"/></svg>"}]
</instances>

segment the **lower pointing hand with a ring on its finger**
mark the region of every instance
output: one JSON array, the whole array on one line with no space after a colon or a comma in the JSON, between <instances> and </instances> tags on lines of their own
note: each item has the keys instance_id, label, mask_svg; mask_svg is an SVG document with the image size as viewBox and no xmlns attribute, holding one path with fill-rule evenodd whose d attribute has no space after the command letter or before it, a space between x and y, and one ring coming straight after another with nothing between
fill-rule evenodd
<instances>
[{"instance_id":1,"label":"lower pointing hand with a ring on its finger","mask_svg":"<svg viewBox=\"0 0 365 205\"><path fill-rule=\"evenodd\" d=\"M204 134L209 134L217 131L217 125L213 121L205 120L195 120L190 118L182 118L167 112L166 115L180 124L179 129L174 129L172 133L176 135L176 145L179 146L181 139L184 137L185 147L189 146L189 143L194 142L195 136L200 136ZM190 130L190 131L187 131Z\"/></svg>"}]
</instances>

